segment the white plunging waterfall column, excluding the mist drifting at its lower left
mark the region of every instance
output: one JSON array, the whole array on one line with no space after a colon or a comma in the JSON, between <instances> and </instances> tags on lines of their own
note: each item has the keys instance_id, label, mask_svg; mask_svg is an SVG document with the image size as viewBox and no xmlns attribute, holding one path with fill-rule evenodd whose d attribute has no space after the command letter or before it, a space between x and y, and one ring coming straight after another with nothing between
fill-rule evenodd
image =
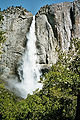
<instances>
[{"instance_id":1,"label":"white plunging waterfall column, excluding the mist drifting at its lower left","mask_svg":"<svg viewBox=\"0 0 80 120\"><path fill-rule=\"evenodd\" d=\"M23 81L22 85L25 90L25 95L32 94L37 88L41 88L39 66L37 64L36 53L36 35L35 35L35 16L30 27L30 31L27 34L27 46L25 56L23 58ZM24 96L25 97L25 96Z\"/></svg>"}]
</instances>

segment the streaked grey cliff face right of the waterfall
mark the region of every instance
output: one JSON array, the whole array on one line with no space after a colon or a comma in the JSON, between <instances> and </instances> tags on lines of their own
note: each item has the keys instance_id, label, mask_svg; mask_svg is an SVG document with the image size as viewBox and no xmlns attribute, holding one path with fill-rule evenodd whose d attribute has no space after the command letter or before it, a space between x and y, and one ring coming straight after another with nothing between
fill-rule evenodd
<instances>
[{"instance_id":1,"label":"streaked grey cliff face right of the waterfall","mask_svg":"<svg viewBox=\"0 0 80 120\"><path fill-rule=\"evenodd\" d=\"M80 2L46 5L36 14L39 63L54 64L56 49L68 52L73 38L80 38Z\"/></svg>"}]
</instances>

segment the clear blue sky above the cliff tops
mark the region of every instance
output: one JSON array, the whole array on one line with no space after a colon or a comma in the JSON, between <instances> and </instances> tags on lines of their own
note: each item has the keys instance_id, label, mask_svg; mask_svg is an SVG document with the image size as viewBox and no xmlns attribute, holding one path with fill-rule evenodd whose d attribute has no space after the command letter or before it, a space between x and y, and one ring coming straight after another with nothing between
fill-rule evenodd
<instances>
[{"instance_id":1,"label":"clear blue sky above the cliff tops","mask_svg":"<svg viewBox=\"0 0 80 120\"><path fill-rule=\"evenodd\" d=\"M69 2L73 0L0 0L1 10L6 9L9 6L22 6L33 14L36 14L40 7L46 4L53 4L59 2Z\"/></svg>"}]
</instances>

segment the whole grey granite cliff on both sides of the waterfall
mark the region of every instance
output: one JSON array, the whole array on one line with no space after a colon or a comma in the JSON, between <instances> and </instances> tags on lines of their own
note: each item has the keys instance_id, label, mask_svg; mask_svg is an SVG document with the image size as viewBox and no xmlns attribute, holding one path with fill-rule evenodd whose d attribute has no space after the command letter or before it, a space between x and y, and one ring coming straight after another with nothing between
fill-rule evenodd
<instances>
[{"instance_id":1,"label":"whole grey granite cliff on both sides of the waterfall","mask_svg":"<svg viewBox=\"0 0 80 120\"><path fill-rule=\"evenodd\" d=\"M6 41L2 45L0 74L8 78L12 74L15 75L17 68L22 64L26 34L33 15L22 7L10 7L2 14L4 21L0 29L6 32ZM39 64L48 67L56 63L58 59L56 49L67 53L72 39L80 38L80 2L42 7L36 14L36 37Z\"/></svg>"}]
</instances>

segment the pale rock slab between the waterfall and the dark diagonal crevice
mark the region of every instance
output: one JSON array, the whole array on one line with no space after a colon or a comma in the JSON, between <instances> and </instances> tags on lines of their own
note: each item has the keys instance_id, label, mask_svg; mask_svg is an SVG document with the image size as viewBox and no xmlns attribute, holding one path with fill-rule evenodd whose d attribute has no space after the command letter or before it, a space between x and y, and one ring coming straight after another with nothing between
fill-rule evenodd
<instances>
[{"instance_id":1,"label":"pale rock slab between the waterfall and the dark diagonal crevice","mask_svg":"<svg viewBox=\"0 0 80 120\"><path fill-rule=\"evenodd\" d=\"M57 46L54 38L54 33L50 23L48 22L46 15L40 15L36 18L36 36L37 36L37 54L40 64L56 63L57 52L55 46ZM54 40L54 41L53 41ZM54 54L56 53L56 54Z\"/></svg>"}]
</instances>

